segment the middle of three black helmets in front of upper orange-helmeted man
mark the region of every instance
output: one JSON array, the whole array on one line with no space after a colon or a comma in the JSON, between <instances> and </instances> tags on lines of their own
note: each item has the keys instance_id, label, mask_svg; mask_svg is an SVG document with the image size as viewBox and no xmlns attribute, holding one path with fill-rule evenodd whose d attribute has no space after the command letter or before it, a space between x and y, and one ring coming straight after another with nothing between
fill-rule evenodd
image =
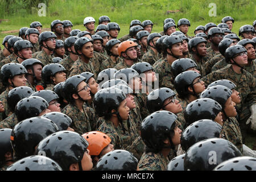
<instances>
[{"instance_id":1,"label":"middle of three black helmets in front of upper orange-helmeted man","mask_svg":"<svg viewBox=\"0 0 256 182\"><path fill-rule=\"evenodd\" d=\"M135 71L133 68L123 68L118 70L115 75L114 78L115 79L121 79L127 83L129 83L131 78L134 77L138 77L139 73L137 71Z\"/></svg>"}]
</instances>

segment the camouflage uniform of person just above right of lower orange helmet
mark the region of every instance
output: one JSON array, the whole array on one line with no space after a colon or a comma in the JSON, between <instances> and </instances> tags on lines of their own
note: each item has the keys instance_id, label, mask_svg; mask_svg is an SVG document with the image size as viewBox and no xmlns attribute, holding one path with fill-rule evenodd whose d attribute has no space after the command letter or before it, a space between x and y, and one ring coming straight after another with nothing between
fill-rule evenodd
<instances>
[{"instance_id":1,"label":"camouflage uniform of person just above right of lower orange helmet","mask_svg":"<svg viewBox=\"0 0 256 182\"><path fill-rule=\"evenodd\" d=\"M135 123L130 122L129 120L123 121L125 134L123 134L121 123L119 123L118 127L115 127L112 121L105 119L98 128L98 131L105 133L112 139L112 144L114 145L115 150L127 150L133 153L138 159L141 158L141 155L144 152L144 143L142 142L142 139L139 139ZM130 127L128 127L128 122L130 123Z\"/></svg>"}]
</instances>

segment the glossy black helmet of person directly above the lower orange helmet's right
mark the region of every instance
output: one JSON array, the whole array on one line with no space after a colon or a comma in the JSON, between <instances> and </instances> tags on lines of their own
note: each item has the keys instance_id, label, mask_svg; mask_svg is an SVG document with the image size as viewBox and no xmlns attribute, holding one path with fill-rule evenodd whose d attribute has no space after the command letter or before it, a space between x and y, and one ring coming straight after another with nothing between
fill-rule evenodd
<instances>
[{"instance_id":1,"label":"glossy black helmet of person directly above the lower orange helmet's right","mask_svg":"<svg viewBox=\"0 0 256 182\"><path fill-rule=\"evenodd\" d=\"M99 90L93 98L96 114L104 117L111 114L111 110L118 110L119 105L126 99L125 93L116 88Z\"/></svg>"}]
</instances>

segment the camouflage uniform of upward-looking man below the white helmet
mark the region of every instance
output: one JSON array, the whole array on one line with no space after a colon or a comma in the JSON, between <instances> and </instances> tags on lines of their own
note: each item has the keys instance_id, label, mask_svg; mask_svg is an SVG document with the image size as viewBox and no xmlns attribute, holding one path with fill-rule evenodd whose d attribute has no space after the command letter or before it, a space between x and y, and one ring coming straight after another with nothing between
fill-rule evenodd
<instances>
[{"instance_id":1,"label":"camouflage uniform of upward-looking man below the white helmet","mask_svg":"<svg viewBox=\"0 0 256 182\"><path fill-rule=\"evenodd\" d=\"M90 72L94 74L94 78L97 78L93 64L90 60L89 63L85 63L79 56L79 59L76 60L76 62L72 65L71 69L69 70L69 77L79 75L83 72Z\"/></svg>"}]
</instances>

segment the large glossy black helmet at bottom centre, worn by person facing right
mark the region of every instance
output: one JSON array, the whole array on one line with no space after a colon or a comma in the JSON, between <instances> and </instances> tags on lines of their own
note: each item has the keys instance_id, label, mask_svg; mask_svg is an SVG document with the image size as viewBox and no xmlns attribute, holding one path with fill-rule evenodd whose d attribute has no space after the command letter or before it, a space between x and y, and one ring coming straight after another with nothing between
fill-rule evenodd
<instances>
[{"instance_id":1,"label":"large glossy black helmet at bottom centre, worn by person facing right","mask_svg":"<svg viewBox=\"0 0 256 182\"><path fill-rule=\"evenodd\" d=\"M174 134L177 115L168 111L156 111L148 115L141 123L141 138L148 150L159 152L166 147L163 140L169 139L172 144L171 134ZM146 150L147 150L146 149Z\"/></svg>"}]
</instances>

